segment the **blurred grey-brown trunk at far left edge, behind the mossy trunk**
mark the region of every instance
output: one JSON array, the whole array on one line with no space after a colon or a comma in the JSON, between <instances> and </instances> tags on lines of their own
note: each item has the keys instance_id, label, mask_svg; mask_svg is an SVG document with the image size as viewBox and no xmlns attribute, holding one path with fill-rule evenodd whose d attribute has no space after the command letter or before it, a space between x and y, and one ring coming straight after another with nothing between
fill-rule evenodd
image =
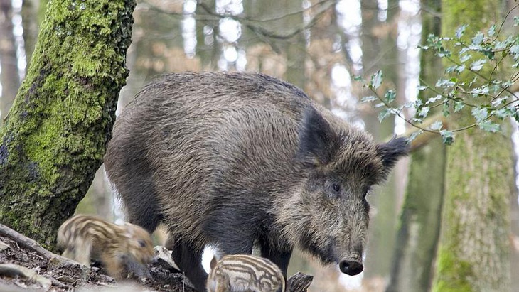
<instances>
[{"instance_id":1,"label":"blurred grey-brown trunk at far left edge, behind the mossy trunk","mask_svg":"<svg viewBox=\"0 0 519 292\"><path fill-rule=\"evenodd\" d=\"M13 35L13 6L11 0L0 0L0 125L13 104L20 87L18 60Z\"/></svg>"}]
</instances>

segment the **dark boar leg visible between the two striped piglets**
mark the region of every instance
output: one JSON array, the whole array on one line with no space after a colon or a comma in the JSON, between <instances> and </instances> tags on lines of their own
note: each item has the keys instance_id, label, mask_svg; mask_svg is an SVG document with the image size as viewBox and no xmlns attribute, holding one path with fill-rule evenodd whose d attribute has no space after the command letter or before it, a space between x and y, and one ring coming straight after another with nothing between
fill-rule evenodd
<instances>
[{"instance_id":1,"label":"dark boar leg visible between the two striped piglets","mask_svg":"<svg viewBox=\"0 0 519 292\"><path fill-rule=\"evenodd\" d=\"M205 282L207 282L208 275L202 266L202 251L193 249L189 244L175 240L171 244L171 258L175 261L178 269L188 277L189 281L193 283L196 290L205 291Z\"/></svg>"}]
</instances>

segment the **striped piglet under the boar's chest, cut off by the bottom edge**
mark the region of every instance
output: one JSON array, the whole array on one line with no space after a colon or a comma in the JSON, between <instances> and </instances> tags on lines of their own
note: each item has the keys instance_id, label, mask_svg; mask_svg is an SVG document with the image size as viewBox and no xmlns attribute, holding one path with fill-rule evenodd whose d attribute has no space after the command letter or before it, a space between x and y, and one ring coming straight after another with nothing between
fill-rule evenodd
<instances>
[{"instance_id":1,"label":"striped piglet under the boar's chest, cut off by the bottom edge","mask_svg":"<svg viewBox=\"0 0 519 292\"><path fill-rule=\"evenodd\" d=\"M209 292L284 292L285 279L268 259L232 254L211 261L207 288Z\"/></svg>"}]
</instances>

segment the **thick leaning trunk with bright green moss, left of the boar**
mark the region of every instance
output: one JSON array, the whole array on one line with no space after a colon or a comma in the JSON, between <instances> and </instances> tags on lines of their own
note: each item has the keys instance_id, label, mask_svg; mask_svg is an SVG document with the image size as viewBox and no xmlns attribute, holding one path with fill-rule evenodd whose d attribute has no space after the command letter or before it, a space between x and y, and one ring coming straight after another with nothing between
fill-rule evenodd
<instances>
[{"instance_id":1,"label":"thick leaning trunk with bright green moss, left of the boar","mask_svg":"<svg viewBox=\"0 0 519 292\"><path fill-rule=\"evenodd\" d=\"M134 0L50 1L0 129L0 222L51 247L102 163Z\"/></svg>"}]
</instances>

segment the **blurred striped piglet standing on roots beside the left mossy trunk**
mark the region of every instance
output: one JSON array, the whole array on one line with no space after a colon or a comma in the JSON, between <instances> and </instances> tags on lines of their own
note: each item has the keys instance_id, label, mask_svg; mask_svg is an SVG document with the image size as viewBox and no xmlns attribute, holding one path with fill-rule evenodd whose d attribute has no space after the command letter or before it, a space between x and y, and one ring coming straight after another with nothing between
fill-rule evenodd
<instances>
[{"instance_id":1,"label":"blurred striped piglet standing on roots beside the left mossy trunk","mask_svg":"<svg viewBox=\"0 0 519 292\"><path fill-rule=\"evenodd\" d=\"M149 276L147 264L153 259L151 237L137 225L115 225L97 217L75 215L58 230L58 249L63 256L90 266L101 261L108 274L124 279L132 271Z\"/></svg>"}]
</instances>

